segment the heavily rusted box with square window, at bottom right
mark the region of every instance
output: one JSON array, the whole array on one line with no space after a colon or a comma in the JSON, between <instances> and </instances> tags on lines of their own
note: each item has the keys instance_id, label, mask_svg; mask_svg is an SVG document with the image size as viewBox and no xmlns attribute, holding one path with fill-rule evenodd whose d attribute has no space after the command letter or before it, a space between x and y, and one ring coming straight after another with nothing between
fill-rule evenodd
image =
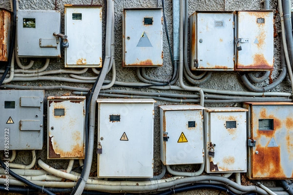
<instances>
[{"instance_id":1,"label":"heavily rusted box with square window, at bottom right","mask_svg":"<svg viewBox=\"0 0 293 195\"><path fill-rule=\"evenodd\" d=\"M245 102L248 113L248 177L293 178L293 103Z\"/></svg>"}]
</instances>

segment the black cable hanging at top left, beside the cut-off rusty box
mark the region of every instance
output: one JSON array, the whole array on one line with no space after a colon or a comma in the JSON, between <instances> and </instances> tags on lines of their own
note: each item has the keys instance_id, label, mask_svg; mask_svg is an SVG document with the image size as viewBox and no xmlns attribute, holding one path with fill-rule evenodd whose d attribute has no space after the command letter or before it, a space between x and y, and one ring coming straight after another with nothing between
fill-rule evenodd
<instances>
[{"instance_id":1,"label":"black cable hanging at top left, beside the cut-off rusty box","mask_svg":"<svg viewBox=\"0 0 293 195\"><path fill-rule=\"evenodd\" d=\"M11 41L10 41L9 51L8 51L8 61L7 61L5 71L0 78L0 86L2 85L6 75L8 74L11 61L13 58L13 50L14 50L14 43L15 43L15 36L16 36L16 23L17 23L16 22L16 0L12 0L12 10L13 12L12 12L12 19L11 19Z\"/></svg>"}]
</instances>

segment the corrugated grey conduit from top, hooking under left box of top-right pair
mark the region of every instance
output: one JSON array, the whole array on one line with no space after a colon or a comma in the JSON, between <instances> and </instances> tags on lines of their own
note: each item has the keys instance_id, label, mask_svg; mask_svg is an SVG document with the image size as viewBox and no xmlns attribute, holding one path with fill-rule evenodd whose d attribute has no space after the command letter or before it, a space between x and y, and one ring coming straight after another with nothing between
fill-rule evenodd
<instances>
[{"instance_id":1,"label":"corrugated grey conduit from top, hooking under left box of top-right pair","mask_svg":"<svg viewBox=\"0 0 293 195\"><path fill-rule=\"evenodd\" d=\"M185 25L184 25L184 69L183 73L185 78L194 85L200 85L211 77L211 72L203 72L200 75L193 75L188 67L188 55L187 55L187 47L188 47L188 0L185 0Z\"/></svg>"}]
</instances>

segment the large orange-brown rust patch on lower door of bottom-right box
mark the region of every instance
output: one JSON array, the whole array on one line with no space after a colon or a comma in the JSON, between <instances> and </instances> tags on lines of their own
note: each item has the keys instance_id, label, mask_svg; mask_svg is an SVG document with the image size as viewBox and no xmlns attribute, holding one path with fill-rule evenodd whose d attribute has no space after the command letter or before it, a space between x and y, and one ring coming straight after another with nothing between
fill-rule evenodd
<instances>
[{"instance_id":1,"label":"large orange-brown rust patch on lower door of bottom-right box","mask_svg":"<svg viewBox=\"0 0 293 195\"><path fill-rule=\"evenodd\" d=\"M255 148L258 154L252 154L252 176L282 178L286 177L281 165L280 146Z\"/></svg>"}]
</instances>

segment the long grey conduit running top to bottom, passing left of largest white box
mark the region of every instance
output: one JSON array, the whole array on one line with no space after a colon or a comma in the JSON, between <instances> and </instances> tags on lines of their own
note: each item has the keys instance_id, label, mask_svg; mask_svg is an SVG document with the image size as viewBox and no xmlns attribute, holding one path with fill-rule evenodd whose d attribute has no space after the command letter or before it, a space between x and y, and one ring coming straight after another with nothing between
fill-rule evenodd
<instances>
[{"instance_id":1,"label":"long grey conduit running top to bottom, passing left of largest white box","mask_svg":"<svg viewBox=\"0 0 293 195\"><path fill-rule=\"evenodd\" d=\"M100 78L98 80L97 86L93 91L93 96L90 102L90 113L89 113L89 133L88 133L88 157L87 161L84 162L85 164L85 174L84 178L81 181L78 189L76 190L74 195L82 195L84 191L85 184L87 182L92 159L93 159L93 152L94 152L94 137L95 137L95 114L96 114L96 104L97 98L99 96L100 90L102 88L103 82L105 80L106 74L108 72L108 67L110 64L111 59L111 43L112 43L112 33L114 33L114 29L112 29L114 18L114 0L107 0L107 21L106 21L106 40L105 40L105 61L104 61L104 68L100 72Z\"/></svg>"}]
</instances>

